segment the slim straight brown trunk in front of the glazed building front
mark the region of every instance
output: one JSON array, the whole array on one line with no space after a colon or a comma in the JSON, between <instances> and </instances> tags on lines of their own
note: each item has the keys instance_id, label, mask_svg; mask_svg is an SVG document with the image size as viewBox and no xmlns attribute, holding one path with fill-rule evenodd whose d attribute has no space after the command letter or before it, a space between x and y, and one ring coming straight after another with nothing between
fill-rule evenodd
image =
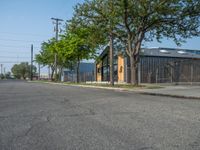
<instances>
[{"instance_id":1,"label":"slim straight brown trunk in front of the glazed building front","mask_svg":"<svg viewBox=\"0 0 200 150\"><path fill-rule=\"evenodd\" d=\"M110 33L110 85L114 86L113 34Z\"/></svg>"}]
</instances>

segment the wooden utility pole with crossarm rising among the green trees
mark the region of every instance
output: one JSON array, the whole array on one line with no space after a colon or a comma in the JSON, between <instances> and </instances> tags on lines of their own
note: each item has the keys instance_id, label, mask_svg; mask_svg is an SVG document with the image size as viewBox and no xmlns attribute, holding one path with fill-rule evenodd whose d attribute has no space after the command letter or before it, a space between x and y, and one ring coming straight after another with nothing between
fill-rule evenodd
<instances>
[{"instance_id":1,"label":"wooden utility pole with crossarm rising among the green trees","mask_svg":"<svg viewBox=\"0 0 200 150\"><path fill-rule=\"evenodd\" d=\"M55 22L53 22L53 23L56 24L54 31L56 32L56 42L57 42L58 41L58 32L59 32L58 26L61 24L60 22L63 20L59 19L59 18L51 18L51 19L54 20ZM55 80L57 80L57 53L56 52L54 54L54 65L55 65Z\"/></svg>"}]
</instances>

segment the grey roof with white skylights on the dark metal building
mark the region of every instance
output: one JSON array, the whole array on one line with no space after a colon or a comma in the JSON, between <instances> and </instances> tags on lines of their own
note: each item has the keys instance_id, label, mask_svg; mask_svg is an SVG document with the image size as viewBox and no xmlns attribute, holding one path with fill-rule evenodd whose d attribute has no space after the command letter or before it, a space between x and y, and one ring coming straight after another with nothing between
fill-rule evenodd
<instances>
[{"instance_id":1,"label":"grey roof with white skylights on the dark metal building","mask_svg":"<svg viewBox=\"0 0 200 150\"><path fill-rule=\"evenodd\" d=\"M175 49L175 48L143 48L142 56L180 57L200 59L200 50Z\"/></svg>"}]
</instances>

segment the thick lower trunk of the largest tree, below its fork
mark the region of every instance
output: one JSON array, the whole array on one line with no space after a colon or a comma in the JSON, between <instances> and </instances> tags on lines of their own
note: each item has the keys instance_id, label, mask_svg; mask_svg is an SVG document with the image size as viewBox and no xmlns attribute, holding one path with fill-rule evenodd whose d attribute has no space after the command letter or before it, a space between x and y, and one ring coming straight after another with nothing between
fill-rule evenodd
<instances>
[{"instance_id":1,"label":"thick lower trunk of the largest tree, below its fork","mask_svg":"<svg viewBox=\"0 0 200 150\"><path fill-rule=\"evenodd\" d=\"M138 85L138 80L137 80L137 63L136 60L134 59L134 56L130 57L130 69L131 69L131 84L133 85Z\"/></svg>"}]
</instances>

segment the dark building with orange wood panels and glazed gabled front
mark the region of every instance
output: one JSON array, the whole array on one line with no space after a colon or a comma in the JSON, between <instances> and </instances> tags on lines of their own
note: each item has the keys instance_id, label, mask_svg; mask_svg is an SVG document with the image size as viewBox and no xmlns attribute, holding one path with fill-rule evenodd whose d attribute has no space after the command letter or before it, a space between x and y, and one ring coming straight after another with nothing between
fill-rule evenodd
<instances>
[{"instance_id":1,"label":"dark building with orange wood panels and glazed gabled front","mask_svg":"<svg viewBox=\"0 0 200 150\"><path fill-rule=\"evenodd\" d=\"M109 81L108 49L96 62L96 81ZM115 54L114 78L117 82L130 82L130 60L126 54ZM200 50L143 48L137 78L140 83L200 82Z\"/></svg>"}]
</instances>

